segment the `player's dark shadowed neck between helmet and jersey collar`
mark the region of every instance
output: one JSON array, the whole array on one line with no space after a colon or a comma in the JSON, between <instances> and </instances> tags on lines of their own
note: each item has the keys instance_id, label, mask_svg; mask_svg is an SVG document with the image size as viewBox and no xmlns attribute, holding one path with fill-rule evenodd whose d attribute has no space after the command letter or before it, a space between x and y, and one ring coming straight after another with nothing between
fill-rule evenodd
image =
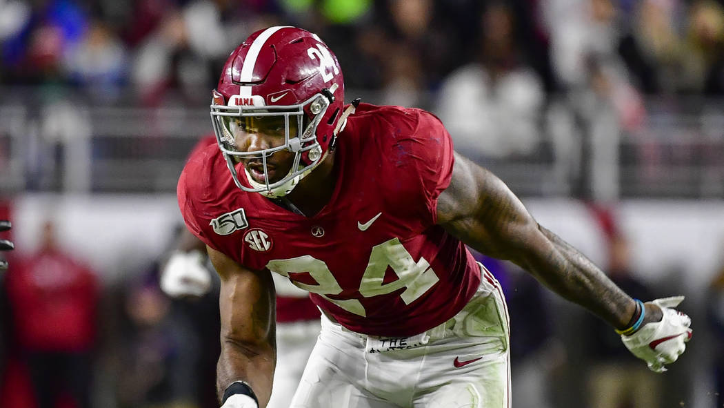
<instances>
[{"instance_id":1,"label":"player's dark shadowed neck between helmet and jersey collar","mask_svg":"<svg viewBox=\"0 0 724 408\"><path fill-rule=\"evenodd\" d=\"M327 159L299 182L286 198L306 217L313 217L332 199L337 185L337 171L334 167L334 151Z\"/></svg>"}]
</instances>

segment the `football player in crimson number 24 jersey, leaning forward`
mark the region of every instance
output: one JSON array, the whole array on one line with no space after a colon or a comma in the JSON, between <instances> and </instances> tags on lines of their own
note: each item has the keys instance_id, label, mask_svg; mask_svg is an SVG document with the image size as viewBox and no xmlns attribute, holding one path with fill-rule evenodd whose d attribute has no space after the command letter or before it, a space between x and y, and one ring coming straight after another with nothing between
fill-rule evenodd
<instances>
[{"instance_id":1,"label":"football player in crimson number 24 jersey, leaning forward","mask_svg":"<svg viewBox=\"0 0 724 408\"><path fill-rule=\"evenodd\" d=\"M505 299L465 244L609 322L652 370L683 353L681 296L631 299L434 115L344 97L337 58L294 27L253 33L213 92L219 148L190 158L177 193L221 278L222 407L269 401L272 273L323 312L291 407L510 407Z\"/></svg>"}]
</instances>

